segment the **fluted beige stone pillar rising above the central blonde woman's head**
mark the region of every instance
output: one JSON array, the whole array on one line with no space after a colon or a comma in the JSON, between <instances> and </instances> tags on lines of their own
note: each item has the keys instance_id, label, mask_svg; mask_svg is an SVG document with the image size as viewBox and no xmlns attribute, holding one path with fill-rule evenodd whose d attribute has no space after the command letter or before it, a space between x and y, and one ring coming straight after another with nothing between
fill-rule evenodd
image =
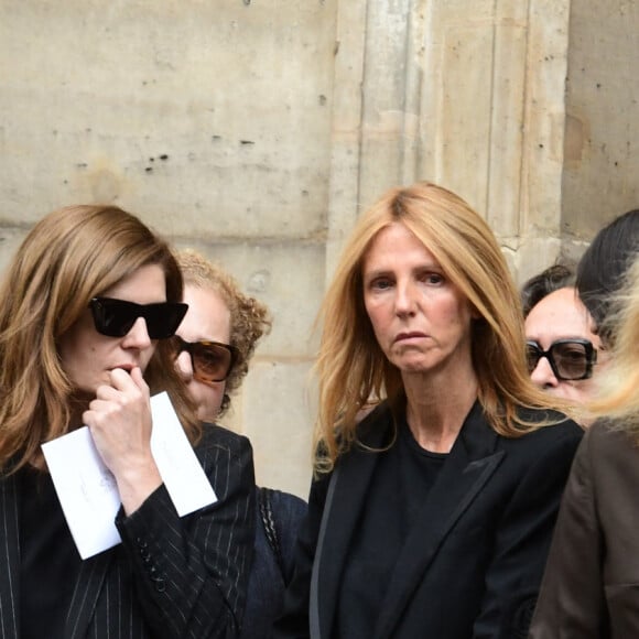
<instances>
[{"instance_id":1,"label":"fluted beige stone pillar rising above the central blonde woman's head","mask_svg":"<svg viewBox=\"0 0 639 639\"><path fill-rule=\"evenodd\" d=\"M339 2L328 275L357 214L422 178L486 216L520 279L554 260L568 10L568 0Z\"/></svg>"}]
</instances>

